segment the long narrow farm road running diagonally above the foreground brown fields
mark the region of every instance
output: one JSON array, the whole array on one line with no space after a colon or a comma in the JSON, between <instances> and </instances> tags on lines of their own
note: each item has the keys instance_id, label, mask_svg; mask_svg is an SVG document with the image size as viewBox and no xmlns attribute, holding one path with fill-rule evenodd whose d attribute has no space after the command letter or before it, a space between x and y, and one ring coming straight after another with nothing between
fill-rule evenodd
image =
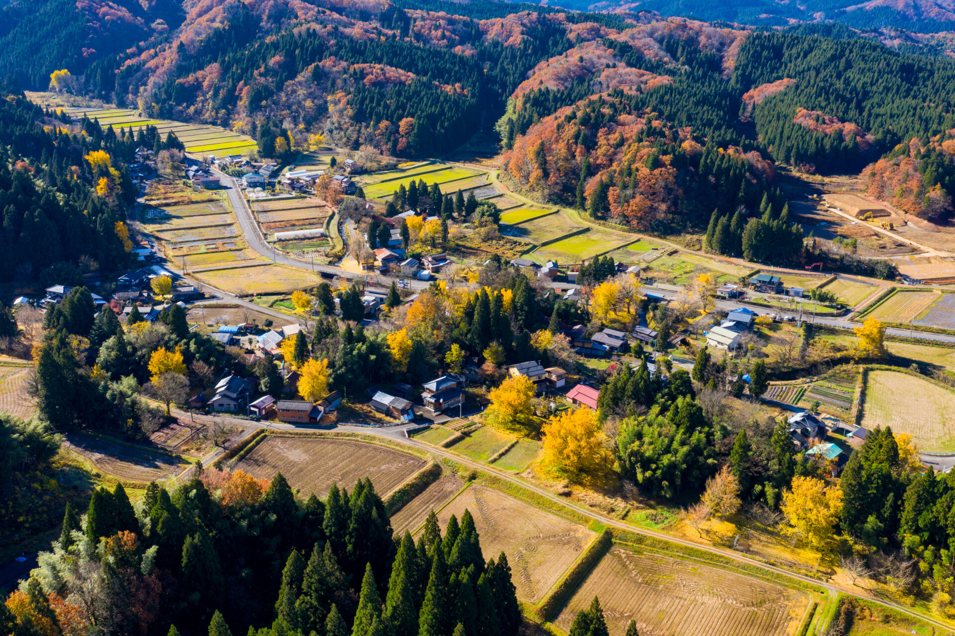
<instances>
[{"instance_id":1,"label":"long narrow farm road running diagonally above the foreground brown fields","mask_svg":"<svg viewBox=\"0 0 955 636\"><path fill-rule=\"evenodd\" d=\"M315 430L313 427L296 427L289 424L272 424L268 422L262 423L262 422L246 422L244 420L230 420L230 423L233 423L233 422L247 425L248 430L246 431L245 435L242 435L243 437L246 435L251 435L253 431L259 428L266 428L266 427L276 429L276 430L296 430L296 429ZM462 464L470 468L484 471L485 473L493 474L495 477L499 477L500 479L514 483L525 490L529 490L533 492L535 495L539 497L549 499L551 501L561 504L562 506L566 508L574 510L575 512L580 513L581 515L584 515L584 517L587 517L590 519L597 519L601 523L604 523L606 526L617 528L620 530L626 530L627 532L634 532L637 534L645 535L647 537L658 539L660 541L669 541L671 543L677 543L679 545L693 548L695 550L701 550L703 552L708 552L713 555L731 559L732 561L735 561L735 562L747 563L749 565L753 565L755 567L759 567L764 570L774 572L775 574L789 577L790 579L795 579L802 583L809 583L812 585L816 585L818 587L822 587L830 594L836 594L838 592L842 592L842 593L850 594L852 596L864 597L873 603L890 607L898 612L902 612L903 614L907 616L911 616L913 618L922 620L931 625L935 625L936 627L941 627L941 628L944 628L945 630L951 629L951 625L947 625L930 616L926 616L919 612L913 611L912 609L905 607L904 605L896 604L891 601L881 599L877 596L871 596L871 595L866 595L864 593L860 593L858 589L853 589L848 586L842 586L837 583L818 581L817 579L803 576L801 574L796 574L795 572L790 572L789 570L786 570L781 567L776 567L775 565L771 565L768 563L757 561L755 559L751 559L742 554L739 554L738 552L733 552L732 550L724 550L722 548L713 547L711 545L696 543L694 541L681 539L679 537L673 537L673 536L664 534L662 532L654 532L652 530L647 530L647 528L642 528L636 525L630 525L628 523L625 523L624 521L621 521L620 519L607 517L602 513L599 513L590 508L586 508L584 506L578 505L574 503L573 501L568 500L567 498L563 498L558 495L555 495L554 493L548 490L535 486L534 484L528 483L527 481L520 479L520 477L515 477L505 471L495 468L494 466L485 464L480 461L475 461L466 456L457 455L456 453L446 451L445 449L442 449L436 446L431 446L429 444L422 444L421 442L417 442L414 439L409 438L408 434L406 433L406 431L409 428L414 428L414 426L415 426L414 424L405 424L405 425L389 427L387 429L368 429L368 428L353 427L353 426L336 426L336 427L333 427L332 429L322 429L322 430L341 431L341 432L350 432L350 433L365 433L369 435L377 435L380 437L386 437L386 438L392 439L393 441L399 442L401 444L405 444L407 446L414 446L421 450L427 451L428 453L431 453L432 455L451 459L458 464ZM218 453L216 455L218 455ZM205 465L208 465L208 464L211 464L212 461L214 460L215 460L214 456L209 456L204 458L202 460L202 463Z\"/></svg>"}]
</instances>

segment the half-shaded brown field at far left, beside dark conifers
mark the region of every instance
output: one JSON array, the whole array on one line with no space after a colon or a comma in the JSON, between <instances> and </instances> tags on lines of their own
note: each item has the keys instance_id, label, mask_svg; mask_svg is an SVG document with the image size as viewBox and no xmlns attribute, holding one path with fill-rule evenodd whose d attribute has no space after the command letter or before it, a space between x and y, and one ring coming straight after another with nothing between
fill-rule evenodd
<instances>
[{"instance_id":1,"label":"half-shaded brown field at far left, beside dark conifers","mask_svg":"<svg viewBox=\"0 0 955 636\"><path fill-rule=\"evenodd\" d=\"M71 433L63 445L88 457L106 475L130 481L155 481L178 473L182 461L92 435Z\"/></svg>"}]
</instances>

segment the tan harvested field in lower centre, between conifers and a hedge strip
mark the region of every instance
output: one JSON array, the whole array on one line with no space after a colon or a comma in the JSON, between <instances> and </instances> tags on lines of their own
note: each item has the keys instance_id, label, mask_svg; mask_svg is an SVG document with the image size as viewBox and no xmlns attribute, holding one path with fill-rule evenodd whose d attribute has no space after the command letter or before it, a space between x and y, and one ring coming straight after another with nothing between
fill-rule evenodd
<instances>
[{"instance_id":1,"label":"tan harvested field in lower centre, between conifers and a hedge strip","mask_svg":"<svg viewBox=\"0 0 955 636\"><path fill-rule=\"evenodd\" d=\"M477 483L445 506L437 519L444 527L452 515L460 519L465 510L474 516L484 557L501 551L507 555L518 598L528 603L541 601L594 537L583 525Z\"/></svg>"}]
</instances>

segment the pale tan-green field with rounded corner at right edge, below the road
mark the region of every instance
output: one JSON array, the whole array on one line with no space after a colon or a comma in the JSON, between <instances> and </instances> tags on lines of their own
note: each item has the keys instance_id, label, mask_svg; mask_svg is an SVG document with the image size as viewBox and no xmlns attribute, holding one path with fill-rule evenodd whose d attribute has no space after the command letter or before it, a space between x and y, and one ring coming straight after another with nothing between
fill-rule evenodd
<instances>
[{"instance_id":1,"label":"pale tan-green field with rounded corner at right edge, below the road","mask_svg":"<svg viewBox=\"0 0 955 636\"><path fill-rule=\"evenodd\" d=\"M908 433L923 451L955 451L955 392L897 371L871 371L862 426Z\"/></svg>"}]
</instances>

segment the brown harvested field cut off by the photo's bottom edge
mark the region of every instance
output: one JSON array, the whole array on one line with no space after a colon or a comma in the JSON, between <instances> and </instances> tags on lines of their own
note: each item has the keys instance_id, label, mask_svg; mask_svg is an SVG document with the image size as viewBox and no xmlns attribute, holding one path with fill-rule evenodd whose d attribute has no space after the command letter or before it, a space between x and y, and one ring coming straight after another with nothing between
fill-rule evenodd
<instances>
[{"instance_id":1,"label":"brown harvested field cut off by the photo's bottom edge","mask_svg":"<svg viewBox=\"0 0 955 636\"><path fill-rule=\"evenodd\" d=\"M566 604L555 624L600 596L610 636L630 620L641 634L785 636L796 630L805 594L726 570L614 546Z\"/></svg>"}]
</instances>

